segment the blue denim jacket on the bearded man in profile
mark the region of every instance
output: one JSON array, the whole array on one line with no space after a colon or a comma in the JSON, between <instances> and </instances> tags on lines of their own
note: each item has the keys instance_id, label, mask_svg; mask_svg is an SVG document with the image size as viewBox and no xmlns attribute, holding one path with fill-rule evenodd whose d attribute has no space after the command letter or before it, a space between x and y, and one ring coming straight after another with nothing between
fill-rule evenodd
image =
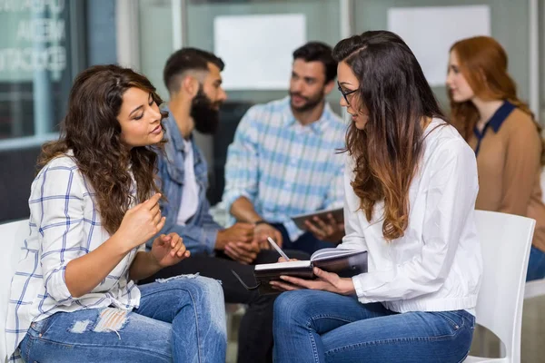
<instances>
[{"instance_id":1,"label":"blue denim jacket on the bearded man in profile","mask_svg":"<svg viewBox=\"0 0 545 363\"><path fill-rule=\"evenodd\" d=\"M166 217L161 233L176 232L183 238L187 250L195 253L213 254L213 247L217 238L218 231L222 227L213 221L210 214L210 203L206 199L206 190L208 188L208 166L197 145L193 145L194 172L199 186L199 206L197 211L185 225L176 223L178 211L182 201L183 191L183 161L185 152L183 151L183 137L180 133L176 121L168 107L163 107L169 116L163 120L165 128L164 154L158 153L158 176L160 179L159 188L163 192L166 201L161 201L161 211ZM148 249L151 248L153 240L147 242Z\"/></svg>"}]
</instances>

